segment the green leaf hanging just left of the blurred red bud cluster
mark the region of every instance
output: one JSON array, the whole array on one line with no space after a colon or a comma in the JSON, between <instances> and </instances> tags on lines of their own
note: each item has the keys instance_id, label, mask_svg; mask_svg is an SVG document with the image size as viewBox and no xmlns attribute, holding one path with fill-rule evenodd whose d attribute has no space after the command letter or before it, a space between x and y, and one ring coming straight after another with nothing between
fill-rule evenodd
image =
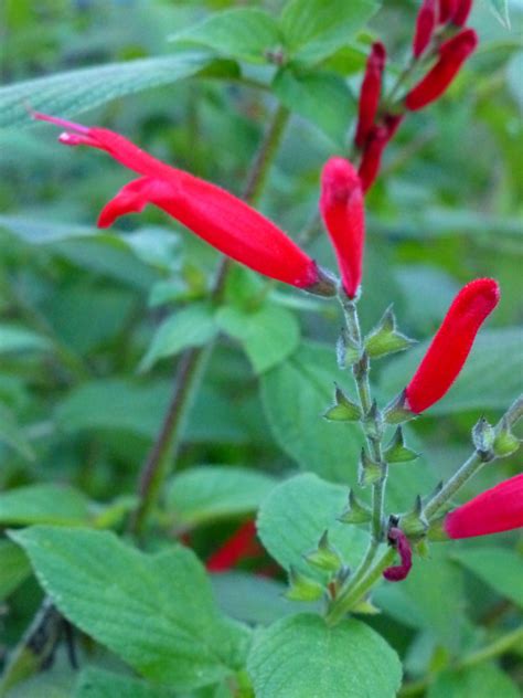
<instances>
[{"instance_id":1,"label":"green leaf hanging just left of the blurred red bud cluster","mask_svg":"<svg viewBox=\"0 0 523 698\"><path fill-rule=\"evenodd\" d=\"M345 81L334 73L280 71L273 89L286 107L305 117L337 144L343 144L352 118L353 99Z\"/></svg>"}]
</instances>

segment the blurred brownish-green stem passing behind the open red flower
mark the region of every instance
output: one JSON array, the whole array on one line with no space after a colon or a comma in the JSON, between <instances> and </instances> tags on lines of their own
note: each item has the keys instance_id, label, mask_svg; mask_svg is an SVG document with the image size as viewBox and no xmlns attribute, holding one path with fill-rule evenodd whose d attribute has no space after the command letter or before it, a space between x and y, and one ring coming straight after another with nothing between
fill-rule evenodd
<instances>
[{"instance_id":1,"label":"blurred brownish-green stem passing behind the open red flower","mask_svg":"<svg viewBox=\"0 0 523 698\"><path fill-rule=\"evenodd\" d=\"M248 203L257 201L262 193L288 118L288 109L279 105L273 115L247 176L243 198ZM211 289L211 298L216 303L223 296L231 266L232 261L228 257L223 257ZM193 347L188 349L178 362L169 406L139 478L139 503L130 519L130 531L135 536L140 536L143 532L149 514L160 497L166 478L172 470L186 416L194 401L211 349L212 345Z\"/></svg>"}]
</instances>

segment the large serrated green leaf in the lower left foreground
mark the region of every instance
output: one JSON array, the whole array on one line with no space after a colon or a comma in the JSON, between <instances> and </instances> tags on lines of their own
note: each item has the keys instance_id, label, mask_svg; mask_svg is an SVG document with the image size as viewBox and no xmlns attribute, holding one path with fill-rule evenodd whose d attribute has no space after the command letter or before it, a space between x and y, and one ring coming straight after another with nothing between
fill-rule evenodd
<instances>
[{"instance_id":1,"label":"large serrated green leaf in the lower left foreground","mask_svg":"<svg viewBox=\"0 0 523 698\"><path fill-rule=\"evenodd\" d=\"M191 689L242 665L246 630L215 606L183 547L148 556L106 531L12 531L58 610L147 678Z\"/></svg>"}]
</instances>

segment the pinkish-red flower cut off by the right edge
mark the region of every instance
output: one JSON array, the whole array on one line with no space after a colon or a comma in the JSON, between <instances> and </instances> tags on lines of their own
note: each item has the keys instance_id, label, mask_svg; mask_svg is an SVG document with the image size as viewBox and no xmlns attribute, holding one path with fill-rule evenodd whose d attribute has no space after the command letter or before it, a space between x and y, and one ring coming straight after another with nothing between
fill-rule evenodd
<instances>
[{"instance_id":1,"label":"pinkish-red flower cut off by the right edge","mask_svg":"<svg viewBox=\"0 0 523 698\"><path fill-rule=\"evenodd\" d=\"M523 526L523 473L478 495L445 517L449 538L472 538Z\"/></svg>"}]
</instances>

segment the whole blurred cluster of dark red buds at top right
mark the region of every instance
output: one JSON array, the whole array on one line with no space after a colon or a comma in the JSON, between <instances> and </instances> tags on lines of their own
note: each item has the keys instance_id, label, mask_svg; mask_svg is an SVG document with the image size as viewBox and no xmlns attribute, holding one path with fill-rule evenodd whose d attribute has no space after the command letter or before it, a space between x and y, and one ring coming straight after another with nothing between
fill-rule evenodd
<instances>
[{"instance_id":1,"label":"whole blurred cluster of dark red buds at top right","mask_svg":"<svg viewBox=\"0 0 523 698\"><path fill-rule=\"evenodd\" d=\"M471 0L423 0L416 19L413 59L406 75L418 66L430 66L419 82L395 99L383 94L385 46L372 45L363 78L354 145L361 152L359 168L363 190L367 191L380 171L387 142L405 114L416 112L440 97L478 45L473 29L465 28Z\"/></svg>"}]
</instances>

